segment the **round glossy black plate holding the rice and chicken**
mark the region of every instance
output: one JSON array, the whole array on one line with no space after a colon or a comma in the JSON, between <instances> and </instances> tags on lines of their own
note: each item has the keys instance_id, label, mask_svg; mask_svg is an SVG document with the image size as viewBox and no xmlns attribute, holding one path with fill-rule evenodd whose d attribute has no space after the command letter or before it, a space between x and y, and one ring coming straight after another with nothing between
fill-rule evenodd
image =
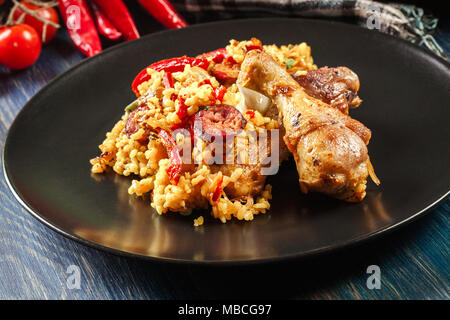
<instances>
[{"instance_id":1,"label":"round glossy black plate holding the rice and chicken","mask_svg":"<svg viewBox=\"0 0 450 320\"><path fill-rule=\"evenodd\" d=\"M270 213L251 223L207 219L194 228L199 213L159 216L148 198L128 196L130 179L91 176L88 160L133 99L130 84L139 70L252 36L280 45L306 41L319 66L348 66L360 76L364 103L352 115L373 131L369 151L382 181L380 187L369 183L362 203L301 195L288 164L270 179ZM448 194L449 101L447 63L376 31L291 19L197 25L114 47L58 76L11 126L4 169L36 218L97 248L184 262L300 257L390 230Z\"/></svg>"}]
</instances>

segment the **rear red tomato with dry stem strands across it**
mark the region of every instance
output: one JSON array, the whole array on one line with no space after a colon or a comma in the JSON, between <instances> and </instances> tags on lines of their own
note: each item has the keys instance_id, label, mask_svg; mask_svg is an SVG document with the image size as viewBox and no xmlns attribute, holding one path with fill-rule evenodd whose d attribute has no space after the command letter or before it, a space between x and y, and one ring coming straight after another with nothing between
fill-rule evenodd
<instances>
[{"instance_id":1,"label":"rear red tomato with dry stem strands across it","mask_svg":"<svg viewBox=\"0 0 450 320\"><path fill-rule=\"evenodd\" d=\"M40 6L37 6L31 2L27 1L21 1L21 5L26 7L29 10L36 11L36 14L39 16L39 18L54 22L56 24L59 23L58 13L53 8L43 8ZM39 10L39 11L37 11ZM17 7L13 12L13 20L17 21L24 12L20 7ZM44 23L37 20L35 17L26 14L25 18L23 20L23 23L28 24L29 26L32 26L36 32L40 35L40 38L43 40L44 43L49 43L53 37L56 34L56 31L58 31L56 28L52 27L51 25L47 25L47 31L45 33L45 41L44 41Z\"/></svg>"}]
</instances>

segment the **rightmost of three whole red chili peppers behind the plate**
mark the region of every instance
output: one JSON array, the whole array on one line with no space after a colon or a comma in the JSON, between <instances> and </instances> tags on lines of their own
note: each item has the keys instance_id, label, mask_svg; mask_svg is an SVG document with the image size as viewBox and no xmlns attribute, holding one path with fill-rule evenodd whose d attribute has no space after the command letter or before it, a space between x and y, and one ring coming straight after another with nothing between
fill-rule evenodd
<instances>
[{"instance_id":1,"label":"rightmost of three whole red chili peppers behind the plate","mask_svg":"<svg viewBox=\"0 0 450 320\"><path fill-rule=\"evenodd\" d=\"M167 0L138 0L138 2L166 28L184 28L188 25Z\"/></svg>"}]
</instances>

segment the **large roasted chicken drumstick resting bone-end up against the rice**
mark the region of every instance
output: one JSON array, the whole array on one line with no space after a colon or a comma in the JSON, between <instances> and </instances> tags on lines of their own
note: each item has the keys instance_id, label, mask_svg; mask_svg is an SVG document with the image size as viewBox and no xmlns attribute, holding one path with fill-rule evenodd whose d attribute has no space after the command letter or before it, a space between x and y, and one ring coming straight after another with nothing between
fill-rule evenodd
<instances>
[{"instance_id":1,"label":"large roasted chicken drumstick resting bone-end up against the rice","mask_svg":"<svg viewBox=\"0 0 450 320\"><path fill-rule=\"evenodd\" d=\"M371 132L338 109L309 96L272 57L247 53L237 83L272 98L286 130L302 192L322 192L349 202L366 195Z\"/></svg>"}]
</instances>

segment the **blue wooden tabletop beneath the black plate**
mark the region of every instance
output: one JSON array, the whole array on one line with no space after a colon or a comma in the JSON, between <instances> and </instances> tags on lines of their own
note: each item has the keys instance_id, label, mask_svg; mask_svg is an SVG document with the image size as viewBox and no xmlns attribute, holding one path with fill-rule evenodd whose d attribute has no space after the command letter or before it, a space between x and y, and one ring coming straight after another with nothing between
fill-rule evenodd
<instances>
[{"instance_id":1,"label":"blue wooden tabletop beneath the black plate","mask_svg":"<svg viewBox=\"0 0 450 320\"><path fill-rule=\"evenodd\" d=\"M147 23L141 31L158 28ZM437 37L448 52L449 33L440 30ZM0 68L2 148L21 107L82 58L60 31L31 68ZM114 256L47 229L15 200L2 173L0 299L449 299L449 212L447 199L382 239L308 260L227 268L166 265ZM71 265L79 267L80 289L68 286ZM369 265L380 267L378 290L366 285Z\"/></svg>"}]
</instances>

